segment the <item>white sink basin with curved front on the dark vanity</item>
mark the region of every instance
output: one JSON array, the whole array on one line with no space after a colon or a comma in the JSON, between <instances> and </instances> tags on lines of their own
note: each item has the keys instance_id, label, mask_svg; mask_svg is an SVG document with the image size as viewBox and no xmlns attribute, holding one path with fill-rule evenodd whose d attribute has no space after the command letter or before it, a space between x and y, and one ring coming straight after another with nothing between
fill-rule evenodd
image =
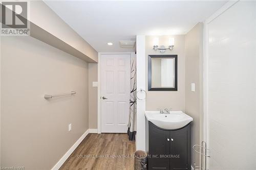
<instances>
[{"instance_id":1,"label":"white sink basin with curved front on the dark vanity","mask_svg":"<svg viewBox=\"0 0 256 170\"><path fill-rule=\"evenodd\" d=\"M148 121L159 128L179 129L193 121L193 118L182 111L170 111L170 114L160 114L160 111L145 111Z\"/></svg>"}]
</instances>

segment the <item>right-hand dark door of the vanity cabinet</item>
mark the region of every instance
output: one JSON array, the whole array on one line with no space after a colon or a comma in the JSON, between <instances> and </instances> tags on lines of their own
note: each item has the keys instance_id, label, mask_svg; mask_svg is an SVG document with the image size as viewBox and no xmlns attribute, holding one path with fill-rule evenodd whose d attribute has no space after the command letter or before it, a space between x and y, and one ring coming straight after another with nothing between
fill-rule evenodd
<instances>
[{"instance_id":1,"label":"right-hand dark door of the vanity cabinet","mask_svg":"<svg viewBox=\"0 0 256 170\"><path fill-rule=\"evenodd\" d=\"M191 169L190 125L170 131L170 169Z\"/></svg>"}]
</instances>

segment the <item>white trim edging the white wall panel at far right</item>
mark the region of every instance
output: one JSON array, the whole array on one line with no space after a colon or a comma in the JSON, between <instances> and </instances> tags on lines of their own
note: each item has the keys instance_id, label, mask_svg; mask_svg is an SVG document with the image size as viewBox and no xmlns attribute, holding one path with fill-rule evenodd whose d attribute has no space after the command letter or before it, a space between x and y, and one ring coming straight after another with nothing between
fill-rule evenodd
<instances>
[{"instance_id":1,"label":"white trim edging the white wall panel at far right","mask_svg":"<svg viewBox=\"0 0 256 170\"><path fill-rule=\"evenodd\" d=\"M207 148L209 147L209 115L208 115L208 25L209 23L232 7L239 1L229 1L218 11L212 14L204 21L204 39L203 39L203 107L204 107L204 124L203 124L203 140L207 143ZM208 169L208 167L207 167Z\"/></svg>"}]
</instances>

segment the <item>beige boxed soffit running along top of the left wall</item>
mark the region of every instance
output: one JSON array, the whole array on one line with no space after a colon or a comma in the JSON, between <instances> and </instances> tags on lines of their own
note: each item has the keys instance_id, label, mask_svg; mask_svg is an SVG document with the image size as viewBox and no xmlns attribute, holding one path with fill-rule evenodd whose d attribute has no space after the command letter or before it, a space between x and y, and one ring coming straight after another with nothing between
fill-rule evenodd
<instances>
[{"instance_id":1,"label":"beige boxed soffit running along top of the left wall","mask_svg":"<svg viewBox=\"0 0 256 170\"><path fill-rule=\"evenodd\" d=\"M65 21L54 13L44 2L29 2L27 16L20 16L30 23L30 36L46 42L59 50L69 53L88 63L98 62L98 52L77 34ZM3 6L1 4L1 6ZM5 8L7 11L11 10Z\"/></svg>"}]
</instances>

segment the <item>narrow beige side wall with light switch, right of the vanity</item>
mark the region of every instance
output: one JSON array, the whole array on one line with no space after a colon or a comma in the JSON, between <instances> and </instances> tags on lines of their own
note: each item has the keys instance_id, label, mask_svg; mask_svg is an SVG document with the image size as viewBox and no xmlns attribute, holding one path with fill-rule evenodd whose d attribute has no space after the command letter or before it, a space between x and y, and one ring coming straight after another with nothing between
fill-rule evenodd
<instances>
[{"instance_id":1,"label":"narrow beige side wall with light switch, right of the vanity","mask_svg":"<svg viewBox=\"0 0 256 170\"><path fill-rule=\"evenodd\" d=\"M200 144L200 124L203 118L203 23L198 23L185 35L185 113L193 117L191 145ZM195 83L195 92L191 91ZM201 121L200 121L201 120ZM203 132L203 127L201 126ZM199 155L191 151L191 164L199 165Z\"/></svg>"}]
</instances>

